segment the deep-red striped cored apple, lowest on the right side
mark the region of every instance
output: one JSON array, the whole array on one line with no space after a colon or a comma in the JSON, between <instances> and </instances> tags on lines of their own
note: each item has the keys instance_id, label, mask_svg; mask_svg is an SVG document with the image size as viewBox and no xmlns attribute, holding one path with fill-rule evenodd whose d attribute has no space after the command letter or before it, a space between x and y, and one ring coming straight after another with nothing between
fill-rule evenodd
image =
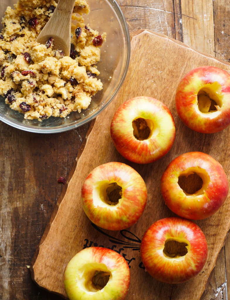
<instances>
[{"instance_id":1,"label":"deep-red striped cored apple, lowest on the right side","mask_svg":"<svg viewBox=\"0 0 230 300\"><path fill-rule=\"evenodd\" d=\"M182 283L205 265L208 246L204 233L191 220L167 217L153 223L141 241L141 258L148 273L165 283Z\"/></svg>"}]
</instances>

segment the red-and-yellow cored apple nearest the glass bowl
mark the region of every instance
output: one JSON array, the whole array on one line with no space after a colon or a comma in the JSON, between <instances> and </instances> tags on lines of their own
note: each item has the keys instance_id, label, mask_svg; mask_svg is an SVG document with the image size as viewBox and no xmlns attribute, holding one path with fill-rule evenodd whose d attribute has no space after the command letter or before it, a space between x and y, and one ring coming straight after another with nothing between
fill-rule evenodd
<instances>
[{"instance_id":1,"label":"red-and-yellow cored apple nearest the glass bowl","mask_svg":"<svg viewBox=\"0 0 230 300\"><path fill-rule=\"evenodd\" d=\"M110 124L110 134L124 158L137 164L148 164L171 149L175 123L165 104L140 96L127 100L118 108Z\"/></svg>"}]
</instances>

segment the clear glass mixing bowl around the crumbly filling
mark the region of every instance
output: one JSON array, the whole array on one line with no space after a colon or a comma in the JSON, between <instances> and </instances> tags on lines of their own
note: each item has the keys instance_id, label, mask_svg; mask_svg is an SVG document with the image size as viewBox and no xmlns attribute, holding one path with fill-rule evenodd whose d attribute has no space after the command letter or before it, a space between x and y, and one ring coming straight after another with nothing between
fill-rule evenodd
<instances>
[{"instance_id":1,"label":"clear glass mixing bowl around the crumbly filling","mask_svg":"<svg viewBox=\"0 0 230 300\"><path fill-rule=\"evenodd\" d=\"M0 17L6 6L13 6L14 0L0 0ZM15 128L36 133L57 133L68 131L94 119L113 100L127 73L130 60L129 30L115 0L88 0L90 13L83 15L85 24L98 32L106 32L106 43L101 47L101 59L97 63L103 89L92 97L91 104L81 113L72 112L66 118L50 117L42 122L26 120L24 114L12 110L0 96L0 120ZM2 25L1 25L2 26ZM2 27L0 26L0 32Z\"/></svg>"}]
</instances>

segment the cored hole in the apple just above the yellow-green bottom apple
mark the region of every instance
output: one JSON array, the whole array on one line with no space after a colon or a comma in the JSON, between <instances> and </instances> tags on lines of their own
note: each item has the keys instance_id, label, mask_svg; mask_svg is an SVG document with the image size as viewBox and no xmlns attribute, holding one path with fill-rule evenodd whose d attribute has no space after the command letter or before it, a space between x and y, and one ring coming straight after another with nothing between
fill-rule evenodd
<instances>
[{"instance_id":1,"label":"cored hole in the apple just above the yellow-green bottom apple","mask_svg":"<svg viewBox=\"0 0 230 300\"><path fill-rule=\"evenodd\" d=\"M106 204L116 205L122 198L122 187L116 182L108 182L101 186L100 197Z\"/></svg>"}]
</instances>

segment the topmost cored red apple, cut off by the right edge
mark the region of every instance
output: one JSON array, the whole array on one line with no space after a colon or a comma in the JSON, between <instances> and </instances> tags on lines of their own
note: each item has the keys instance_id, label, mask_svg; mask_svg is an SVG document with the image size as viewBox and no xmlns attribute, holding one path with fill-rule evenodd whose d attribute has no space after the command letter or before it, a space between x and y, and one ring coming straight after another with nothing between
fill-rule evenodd
<instances>
[{"instance_id":1,"label":"topmost cored red apple, cut off by the right edge","mask_svg":"<svg viewBox=\"0 0 230 300\"><path fill-rule=\"evenodd\" d=\"M230 124L230 75L217 67L203 66L188 72L176 91L181 121L194 131L215 133Z\"/></svg>"}]
</instances>

